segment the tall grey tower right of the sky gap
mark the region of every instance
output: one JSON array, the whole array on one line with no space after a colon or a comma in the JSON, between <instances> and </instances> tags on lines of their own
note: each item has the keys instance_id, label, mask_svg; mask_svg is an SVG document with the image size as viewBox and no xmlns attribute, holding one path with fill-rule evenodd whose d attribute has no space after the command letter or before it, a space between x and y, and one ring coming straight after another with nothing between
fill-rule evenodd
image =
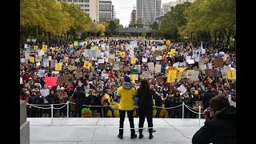
<instances>
[{"instance_id":1,"label":"tall grey tower right of the sky gap","mask_svg":"<svg viewBox=\"0 0 256 144\"><path fill-rule=\"evenodd\" d=\"M149 25L154 18L160 15L161 0L137 0L136 1L136 22Z\"/></svg>"}]
</instances>

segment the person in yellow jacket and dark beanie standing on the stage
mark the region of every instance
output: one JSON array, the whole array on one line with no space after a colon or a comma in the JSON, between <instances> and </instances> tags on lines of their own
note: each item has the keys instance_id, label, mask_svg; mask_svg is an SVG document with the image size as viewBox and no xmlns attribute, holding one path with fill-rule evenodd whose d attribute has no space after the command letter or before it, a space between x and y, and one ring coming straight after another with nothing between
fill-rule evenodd
<instances>
[{"instance_id":1,"label":"person in yellow jacket and dark beanie standing on the stage","mask_svg":"<svg viewBox=\"0 0 256 144\"><path fill-rule=\"evenodd\" d=\"M119 134L118 138L123 138L123 122L125 121L126 111L128 114L130 128L134 128L134 98L137 94L135 87L130 83L130 77L126 74L122 86L118 88L117 96L119 99ZM130 138L137 138L134 129L130 129Z\"/></svg>"}]
</instances>

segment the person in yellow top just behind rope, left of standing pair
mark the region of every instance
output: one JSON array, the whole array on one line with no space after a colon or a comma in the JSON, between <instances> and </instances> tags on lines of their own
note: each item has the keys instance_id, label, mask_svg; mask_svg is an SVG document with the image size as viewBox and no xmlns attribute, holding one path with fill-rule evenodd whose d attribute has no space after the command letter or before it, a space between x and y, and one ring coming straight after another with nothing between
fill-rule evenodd
<instances>
[{"instance_id":1,"label":"person in yellow top just behind rope, left of standing pair","mask_svg":"<svg viewBox=\"0 0 256 144\"><path fill-rule=\"evenodd\" d=\"M102 106L105 106L103 111L104 111L104 117L106 118L108 110L111 111L112 113L112 118L114 118L114 109L111 106L111 101L112 101L112 96L111 96L112 91L110 89L106 90L106 94L102 98Z\"/></svg>"}]
</instances>

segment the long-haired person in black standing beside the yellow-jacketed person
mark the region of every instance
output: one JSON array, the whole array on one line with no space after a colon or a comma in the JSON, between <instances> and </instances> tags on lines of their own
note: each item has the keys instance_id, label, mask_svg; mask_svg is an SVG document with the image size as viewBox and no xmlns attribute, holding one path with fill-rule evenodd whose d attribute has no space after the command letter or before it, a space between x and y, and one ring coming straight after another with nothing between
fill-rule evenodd
<instances>
[{"instance_id":1,"label":"long-haired person in black standing beside the yellow-jacketed person","mask_svg":"<svg viewBox=\"0 0 256 144\"><path fill-rule=\"evenodd\" d=\"M139 128L139 137L143 138L142 128L144 125L145 118L148 123L149 132L150 132L150 139L153 138L153 95L155 94L154 90L150 90L150 85L143 79L141 81L141 86L138 88L138 128Z\"/></svg>"}]
</instances>

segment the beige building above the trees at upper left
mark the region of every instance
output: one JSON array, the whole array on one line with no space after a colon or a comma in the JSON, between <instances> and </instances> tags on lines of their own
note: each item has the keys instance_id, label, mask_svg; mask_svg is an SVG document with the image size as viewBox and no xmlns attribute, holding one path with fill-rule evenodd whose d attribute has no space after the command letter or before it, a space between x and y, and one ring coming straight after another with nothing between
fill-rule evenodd
<instances>
[{"instance_id":1,"label":"beige building above the trees at upper left","mask_svg":"<svg viewBox=\"0 0 256 144\"><path fill-rule=\"evenodd\" d=\"M99 0L56 0L57 2L74 3L81 8L94 22L99 22Z\"/></svg>"}]
</instances>

